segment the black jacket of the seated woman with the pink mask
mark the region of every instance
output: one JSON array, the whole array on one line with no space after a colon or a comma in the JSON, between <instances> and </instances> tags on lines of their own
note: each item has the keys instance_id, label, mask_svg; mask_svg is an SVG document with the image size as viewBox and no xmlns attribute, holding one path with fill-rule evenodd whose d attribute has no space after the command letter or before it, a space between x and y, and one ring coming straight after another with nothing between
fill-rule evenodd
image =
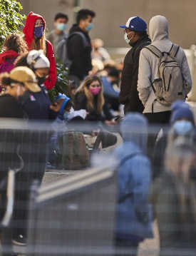
<instances>
[{"instance_id":1,"label":"black jacket of the seated woman with the pink mask","mask_svg":"<svg viewBox=\"0 0 196 256\"><path fill-rule=\"evenodd\" d=\"M86 109L88 112L88 116L86 117L87 121L105 121L105 120L111 120L113 116L110 114L110 111L108 110L107 106L104 104L103 106L103 114L99 114L97 111L97 97L94 97L94 108L89 110L87 108L87 98L83 93L76 93L75 96L75 110L79 111L81 109Z\"/></svg>"}]
</instances>

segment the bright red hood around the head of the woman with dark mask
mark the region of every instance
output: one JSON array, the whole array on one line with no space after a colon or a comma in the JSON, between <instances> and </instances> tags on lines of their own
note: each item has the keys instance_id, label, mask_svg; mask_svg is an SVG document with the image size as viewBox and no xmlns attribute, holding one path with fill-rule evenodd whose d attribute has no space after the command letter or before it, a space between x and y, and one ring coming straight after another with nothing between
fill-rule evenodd
<instances>
[{"instance_id":1,"label":"bright red hood around the head of the woman with dark mask","mask_svg":"<svg viewBox=\"0 0 196 256\"><path fill-rule=\"evenodd\" d=\"M29 50L31 49L31 43L33 41L33 32L34 32L34 26L37 19L41 19L43 21L43 31L45 32L46 29L46 21L43 19L41 15L34 14L33 11L31 11L28 16L26 17L26 22L24 26L24 39L29 47Z\"/></svg>"}]
</instances>

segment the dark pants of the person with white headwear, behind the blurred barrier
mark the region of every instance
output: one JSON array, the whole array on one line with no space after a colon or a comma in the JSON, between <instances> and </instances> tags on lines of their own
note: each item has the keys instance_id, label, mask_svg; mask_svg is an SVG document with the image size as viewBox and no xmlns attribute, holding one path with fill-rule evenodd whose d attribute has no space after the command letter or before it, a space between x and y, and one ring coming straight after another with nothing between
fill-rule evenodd
<instances>
[{"instance_id":1,"label":"dark pants of the person with white headwear, behind the blurred barrier","mask_svg":"<svg viewBox=\"0 0 196 256\"><path fill-rule=\"evenodd\" d=\"M29 199L33 180L41 184L46 168L46 148L48 134L45 131L29 131L23 133L21 157L24 160L24 169L16 174L13 227L14 237L26 236Z\"/></svg>"}]
</instances>

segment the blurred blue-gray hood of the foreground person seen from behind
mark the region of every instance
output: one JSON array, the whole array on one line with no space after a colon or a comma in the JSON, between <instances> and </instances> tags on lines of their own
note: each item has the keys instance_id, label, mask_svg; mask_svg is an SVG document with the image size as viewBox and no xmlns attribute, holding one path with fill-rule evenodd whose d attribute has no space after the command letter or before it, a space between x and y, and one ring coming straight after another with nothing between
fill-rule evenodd
<instances>
[{"instance_id":1,"label":"blurred blue-gray hood of the foreground person seen from behind","mask_svg":"<svg viewBox=\"0 0 196 256\"><path fill-rule=\"evenodd\" d=\"M120 131L125 142L130 141L140 150L146 152L148 138L148 121L139 113L129 113L120 125Z\"/></svg>"}]
</instances>

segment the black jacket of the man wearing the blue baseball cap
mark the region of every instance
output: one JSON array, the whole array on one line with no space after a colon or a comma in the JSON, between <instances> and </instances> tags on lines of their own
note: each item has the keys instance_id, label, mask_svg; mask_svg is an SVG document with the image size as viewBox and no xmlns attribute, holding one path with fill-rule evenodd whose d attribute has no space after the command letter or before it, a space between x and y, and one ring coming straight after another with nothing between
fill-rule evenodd
<instances>
[{"instance_id":1,"label":"black jacket of the man wearing the blue baseball cap","mask_svg":"<svg viewBox=\"0 0 196 256\"><path fill-rule=\"evenodd\" d=\"M138 96L138 68L140 51L143 47L150 44L148 35L139 39L133 48L125 56L123 73L120 87L120 103L125 104L126 112L140 112L143 113L143 104Z\"/></svg>"}]
</instances>

